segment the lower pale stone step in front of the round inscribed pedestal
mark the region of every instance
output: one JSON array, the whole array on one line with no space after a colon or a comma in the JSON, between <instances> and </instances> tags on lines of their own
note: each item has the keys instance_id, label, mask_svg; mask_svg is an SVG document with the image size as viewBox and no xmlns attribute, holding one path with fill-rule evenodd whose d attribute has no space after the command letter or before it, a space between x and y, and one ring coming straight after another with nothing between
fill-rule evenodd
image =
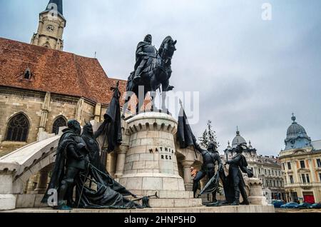
<instances>
[{"instance_id":1,"label":"lower pale stone step in front of the round inscribed pedestal","mask_svg":"<svg viewBox=\"0 0 321 227\"><path fill-rule=\"evenodd\" d=\"M151 198L150 206L152 208L188 208L202 206L200 198Z\"/></svg>"}]
</instances>

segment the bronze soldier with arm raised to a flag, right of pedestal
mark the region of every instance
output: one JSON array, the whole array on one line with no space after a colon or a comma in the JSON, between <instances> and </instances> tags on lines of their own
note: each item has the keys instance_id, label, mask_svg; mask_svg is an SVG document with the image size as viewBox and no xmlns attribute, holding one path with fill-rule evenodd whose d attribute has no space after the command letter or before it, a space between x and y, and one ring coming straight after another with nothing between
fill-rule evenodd
<instances>
[{"instance_id":1,"label":"bronze soldier with arm raised to a flag, right of pedestal","mask_svg":"<svg viewBox=\"0 0 321 227\"><path fill-rule=\"evenodd\" d=\"M194 141L194 146L196 150L198 150L203 156L203 165L201 170L196 174L193 181L193 193L194 198L196 198L196 191L198 190L198 183L202 178L208 176L208 179L213 178L215 176L215 162L218 162L218 171L223 171L223 162L220 158L220 154L216 150L216 146L214 143L210 143L208 146L208 150L204 150L200 148L200 145ZM216 191L213 193L213 202L218 202L216 199Z\"/></svg>"}]
</instances>

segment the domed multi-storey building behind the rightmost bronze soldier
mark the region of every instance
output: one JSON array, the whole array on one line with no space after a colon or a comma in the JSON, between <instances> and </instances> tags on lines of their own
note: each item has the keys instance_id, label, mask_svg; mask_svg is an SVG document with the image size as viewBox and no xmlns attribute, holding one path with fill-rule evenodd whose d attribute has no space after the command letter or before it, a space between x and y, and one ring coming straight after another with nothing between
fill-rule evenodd
<instances>
[{"instance_id":1,"label":"domed multi-storey building behind the rightmost bronze soldier","mask_svg":"<svg viewBox=\"0 0 321 227\"><path fill-rule=\"evenodd\" d=\"M228 147L224 151L223 160L231 159L236 155L235 148L241 143L248 146L248 152L243 153L248 161L248 168L252 169L254 177L260 179L263 183L263 193L267 201L272 199L285 199L284 183L282 178L281 163L275 156L258 155L256 148L252 146L251 141L248 143L245 138L240 135L240 131L236 131L233 138L232 146L230 141Z\"/></svg>"}]
</instances>

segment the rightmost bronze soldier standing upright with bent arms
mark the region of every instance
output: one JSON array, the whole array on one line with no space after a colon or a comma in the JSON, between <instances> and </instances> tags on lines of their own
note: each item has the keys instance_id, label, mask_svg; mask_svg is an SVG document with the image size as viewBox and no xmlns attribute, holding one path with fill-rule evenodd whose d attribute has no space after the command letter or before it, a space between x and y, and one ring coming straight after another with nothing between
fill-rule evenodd
<instances>
[{"instance_id":1,"label":"rightmost bronze soldier standing upright with bent arms","mask_svg":"<svg viewBox=\"0 0 321 227\"><path fill-rule=\"evenodd\" d=\"M230 188L230 192L228 193L225 192L225 196L230 197L227 198L227 200L232 201L231 206L238 206L238 205L249 205L250 203L248 202L248 195L246 194L245 191L245 182L243 179L243 173L247 173L248 177L253 177L252 171L248 169L248 162L246 161L245 156L243 156L243 150L246 149L244 148L245 144L240 144L235 148L236 155L230 160L227 161L226 164L230 165L228 169L228 188ZM245 146L246 147L246 146ZM243 197L243 203L240 203L240 194Z\"/></svg>"}]
</instances>

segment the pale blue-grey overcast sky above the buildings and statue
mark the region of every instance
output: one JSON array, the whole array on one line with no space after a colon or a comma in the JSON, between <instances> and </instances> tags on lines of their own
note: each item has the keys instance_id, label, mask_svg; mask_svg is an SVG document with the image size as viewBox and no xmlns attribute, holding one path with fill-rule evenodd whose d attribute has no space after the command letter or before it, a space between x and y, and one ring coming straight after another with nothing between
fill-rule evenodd
<instances>
[{"instance_id":1,"label":"pale blue-grey overcast sky above the buildings and statue","mask_svg":"<svg viewBox=\"0 0 321 227\"><path fill-rule=\"evenodd\" d=\"M0 36L30 42L49 0L0 0ZM263 3L272 21L262 19ZM63 0L64 51L127 79L146 34L178 40L170 84L200 91L196 135L211 120L223 151L236 126L258 153L285 148L291 114L321 139L321 1Z\"/></svg>"}]
</instances>

